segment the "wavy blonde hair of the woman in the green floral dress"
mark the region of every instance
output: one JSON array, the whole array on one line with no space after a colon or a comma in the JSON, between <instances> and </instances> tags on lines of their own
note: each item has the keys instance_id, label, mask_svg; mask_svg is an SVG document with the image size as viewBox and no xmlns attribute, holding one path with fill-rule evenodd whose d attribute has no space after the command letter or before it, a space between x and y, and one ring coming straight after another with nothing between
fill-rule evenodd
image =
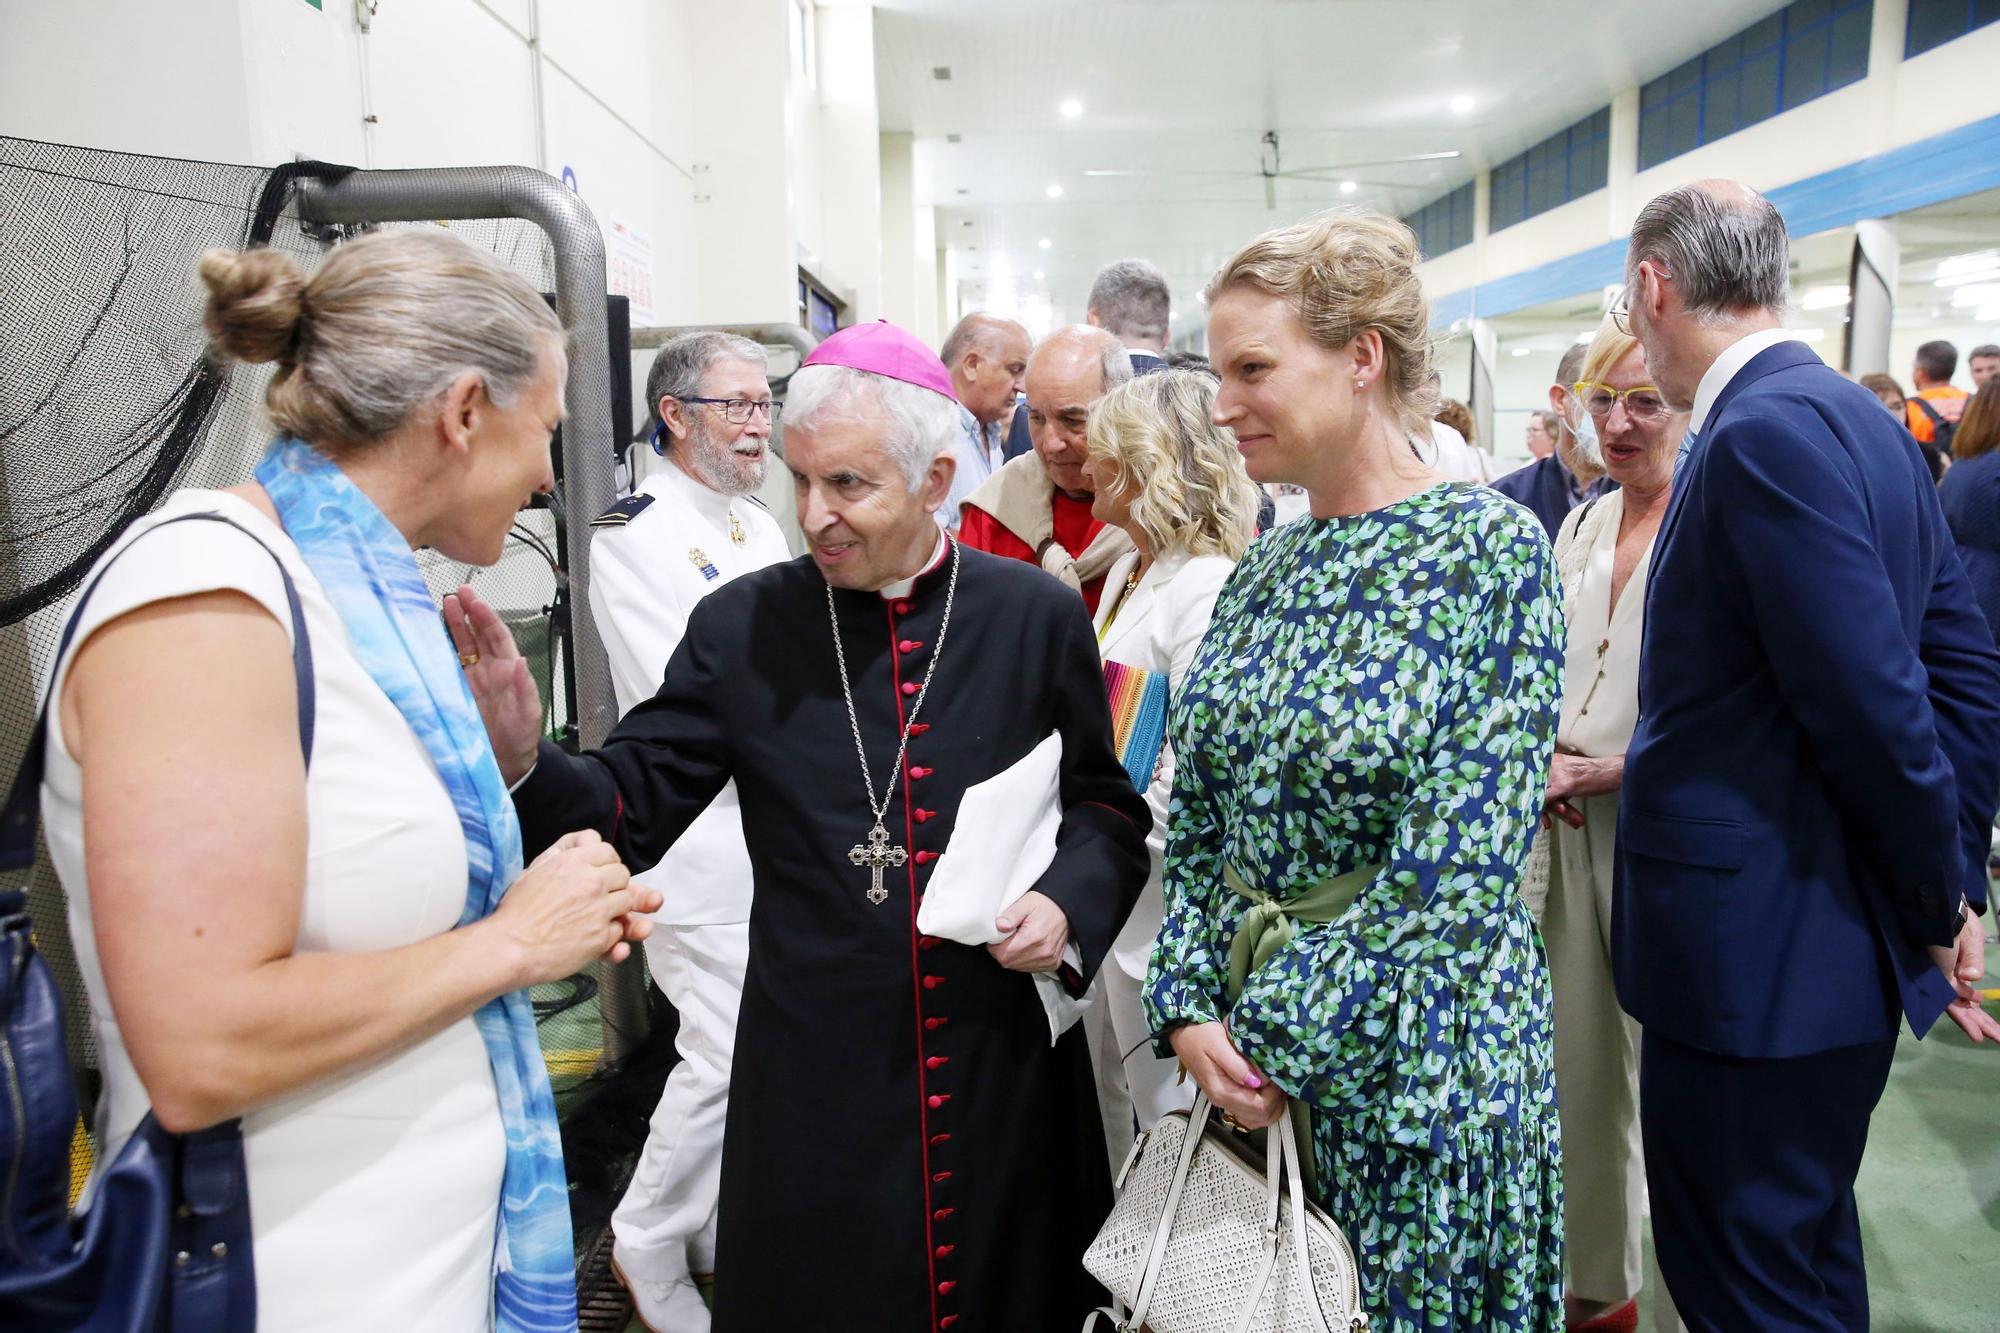
<instances>
[{"instance_id":1,"label":"wavy blonde hair of the woman in the green floral dress","mask_svg":"<svg viewBox=\"0 0 2000 1333\"><path fill-rule=\"evenodd\" d=\"M1250 286L1290 302L1314 342L1338 352L1362 332L1382 334L1382 384L1412 438L1430 438L1438 388L1430 376L1430 302L1416 276L1416 232L1378 212L1340 208L1264 232L1230 258L1208 302Z\"/></svg>"}]
</instances>

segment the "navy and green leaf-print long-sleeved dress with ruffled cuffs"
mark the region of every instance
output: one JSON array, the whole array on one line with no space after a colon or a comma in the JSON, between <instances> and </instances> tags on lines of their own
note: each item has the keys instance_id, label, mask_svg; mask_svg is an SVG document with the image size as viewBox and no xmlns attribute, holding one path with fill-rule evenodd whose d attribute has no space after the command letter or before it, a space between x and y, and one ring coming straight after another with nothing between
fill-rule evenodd
<instances>
[{"instance_id":1,"label":"navy and green leaf-print long-sleeved dress with ruffled cuffs","mask_svg":"<svg viewBox=\"0 0 2000 1333\"><path fill-rule=\"evenodd\" d=\"M1548 961L1520 897L1562 693L1554 554L1442 482L1258 538L1174 701L1154 1033L1226 1021L1312 1109L1380 1329L1560 1329ZM1224 999L1250 901L1380 867Z\"/></svg>"}]
</instances>

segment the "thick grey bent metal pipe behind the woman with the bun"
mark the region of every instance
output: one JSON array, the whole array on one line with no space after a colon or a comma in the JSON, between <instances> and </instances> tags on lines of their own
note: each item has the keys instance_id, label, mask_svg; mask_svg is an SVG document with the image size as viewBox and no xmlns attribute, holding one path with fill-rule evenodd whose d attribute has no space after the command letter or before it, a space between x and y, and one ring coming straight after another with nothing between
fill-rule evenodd
<instances>
[{"instance_id":1,"label":"thick grey bent metal pipe behind the woman with the bun","mask_svg":"<svg viewBox=\"0 0 2000 1333\"><path fill-rule=\"evenodd\" d=\"M576 735L604 741L618 721L610 658L590 614L590 518L618 498L612 450L610 336L604 326L604 232L590 206L530 166L362 170L338 182L300 180L308 222L438 222L522 218L556 252L556 318L568 330L570 378L562 422L562 530L570 550L570 640L576 646Z\"/></svg>"}]
</instances>

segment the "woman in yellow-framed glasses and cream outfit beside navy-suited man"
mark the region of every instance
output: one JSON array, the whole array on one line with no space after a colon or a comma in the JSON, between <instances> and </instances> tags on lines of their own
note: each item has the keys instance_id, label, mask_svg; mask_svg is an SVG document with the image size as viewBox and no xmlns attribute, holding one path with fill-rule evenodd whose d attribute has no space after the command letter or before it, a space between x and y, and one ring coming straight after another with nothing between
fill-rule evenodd
<instances>
[{"instance_id":1,"label":"woman in yellow-framed glasses and cream outfit beside navy-suited man","mask_svg":"<svg viewBox=\"0 0 2000 1333\"><path fill-rule=\"evenodd\" d=\"M1576 398L1618 490L1572 510L1556 534L1570 638L1530 893L1546 875L1542 937L1556 993L1566 1163L1566 1321L1602 1333L1638 1327L1644 1277L1638 1025L1612 989L1612 853L1624 751L1638 723L1646 574L1688 420L1654 386L1638 342L1610 320L1590 342ZM1658 1313L1666 1317L1660 1327L1674 1327Z\"/></svg>"}]
</instances>

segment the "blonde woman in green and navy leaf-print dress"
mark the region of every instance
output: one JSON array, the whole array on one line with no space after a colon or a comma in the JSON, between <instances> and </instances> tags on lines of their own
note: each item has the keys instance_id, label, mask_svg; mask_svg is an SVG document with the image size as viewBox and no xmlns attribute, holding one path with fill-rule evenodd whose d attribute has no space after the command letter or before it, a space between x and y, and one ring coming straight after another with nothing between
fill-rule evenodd
<instances>
[{"instance_id":1,"label":"blonde woman in green and navy leaf-print dress","mask_svg":"<svg viewBox=\"0 0 2000 1333\"><path fill-rule=\"evenodd\" d=\"M1250 546L1174 701L1146 1005L1240 1125L1310 1109L1378 1329L1560 1329L1548 967L1518 893L1560 584L1528 510L1410 444L1432 392L1414 264L1400 222L1330 214L1210 284L1216 420L1312 514ZM1260 901L1286 919L1250 955Z\"/></svg>"}]
</instances>

